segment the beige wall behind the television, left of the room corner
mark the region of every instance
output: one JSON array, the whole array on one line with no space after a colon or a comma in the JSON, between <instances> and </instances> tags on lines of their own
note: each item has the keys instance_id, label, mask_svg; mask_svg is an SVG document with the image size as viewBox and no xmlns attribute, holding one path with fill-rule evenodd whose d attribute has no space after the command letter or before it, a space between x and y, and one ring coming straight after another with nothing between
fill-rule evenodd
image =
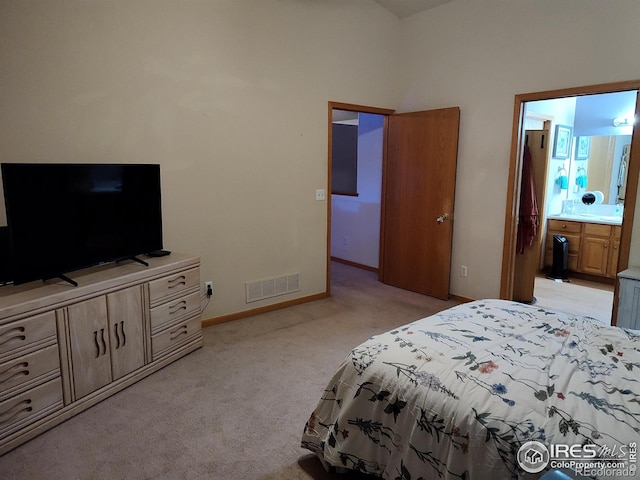
<instances>
[{"instance_id":1,"label":"beige wall behind the television, left of the room corner","mask_svg":"<svg viewBox=\"0 0 640 480\"><path fill-rule=\"evenodd\" d=\"M328 102L398 104L399 27L369 0L3 0L0 161L160 163L205 319L322 293Z\"/></svg>"}]
</instances>

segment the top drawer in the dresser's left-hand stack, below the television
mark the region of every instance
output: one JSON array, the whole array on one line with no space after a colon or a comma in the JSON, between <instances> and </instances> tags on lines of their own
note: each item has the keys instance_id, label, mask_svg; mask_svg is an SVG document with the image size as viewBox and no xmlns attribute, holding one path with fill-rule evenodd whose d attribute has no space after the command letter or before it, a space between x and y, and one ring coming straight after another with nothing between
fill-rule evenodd
<instances>
[{"instance_id":1,"label":"top drawer in the dresser's left-hand stack, below the television","mask_svg":"<svg viewBox=\"0 0 640 480\"><path fill-rule=\"evenodd\" d=\"M33 343L56 338L56 314L46 312L0 325L0 359Z\"/></svg>"}]
</instances>

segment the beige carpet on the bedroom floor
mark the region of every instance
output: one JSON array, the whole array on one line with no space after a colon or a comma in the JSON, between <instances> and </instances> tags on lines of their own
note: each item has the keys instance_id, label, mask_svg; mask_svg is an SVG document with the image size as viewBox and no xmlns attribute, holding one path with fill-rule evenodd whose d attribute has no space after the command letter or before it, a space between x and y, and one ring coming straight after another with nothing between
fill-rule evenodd
<instances>
[{"instance_id":1,"label":"beige carpet on the bedroom floor","mask_svg":"<svg viewBox=\"0 0 640 480\"><path fill-rule=\"evenodd\" d=\"M456 302L332 271L330 298L206 328L202 349L0 457L0 478L358 478L300 448L308 415L353 346Z\"/></svg>"}]
</instances>

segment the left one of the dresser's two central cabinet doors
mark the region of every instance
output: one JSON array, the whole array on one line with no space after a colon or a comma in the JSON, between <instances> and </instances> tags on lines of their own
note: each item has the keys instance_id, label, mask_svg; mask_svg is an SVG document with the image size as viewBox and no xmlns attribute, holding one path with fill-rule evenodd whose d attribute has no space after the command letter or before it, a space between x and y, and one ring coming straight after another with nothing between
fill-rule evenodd
<instances>
[{"instance_id":1,"label":"left one of the dresser's two central cabinet doors","mask_svg":"<svg viewBox=\"0 0 640 480\"><path fill-rule=\"evenodd\" d=\"M111 382L107 302L104 296L67 308L75 399Z\"/></svg>"}]
</instances>

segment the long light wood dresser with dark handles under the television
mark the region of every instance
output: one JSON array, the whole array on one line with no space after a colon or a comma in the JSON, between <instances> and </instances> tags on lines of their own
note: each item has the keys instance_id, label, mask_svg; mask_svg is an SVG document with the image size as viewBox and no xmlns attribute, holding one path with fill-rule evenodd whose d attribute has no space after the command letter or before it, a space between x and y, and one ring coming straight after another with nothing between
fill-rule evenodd
<instances>
[{"instance_id":1,"label":"long light wood dresser with dark handles under the television","mask_svg":"<svg viewBox=\"0 0 640 480\"><path fill-rule=\"evenodd\" d=\"M0 454L202 346L200 259L0 287Z\"/></svg>"}]
</instances>

